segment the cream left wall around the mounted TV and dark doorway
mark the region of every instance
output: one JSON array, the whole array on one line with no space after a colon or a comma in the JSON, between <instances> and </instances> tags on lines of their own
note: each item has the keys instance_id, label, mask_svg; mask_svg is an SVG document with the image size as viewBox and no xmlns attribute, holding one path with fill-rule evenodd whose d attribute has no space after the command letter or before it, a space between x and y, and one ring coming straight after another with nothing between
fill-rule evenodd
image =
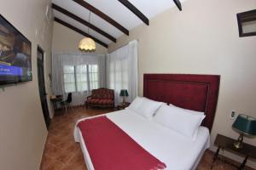
<instances>
[{"instance_id":1,"label":"cream left wall around the mounted TV and dark doorway","mask_svg":"<svg viewBox=\"0 0 256 170\"><path fill-rule=\"evenodd\" d=\"M38 93L37 48L39 45L45 51L45 75L48 75L52 21L46 21L44 14L50 2L1 0L3 17L32 42L32 82L0 90L0 169L39 169L47 129ZM47 79L46 89L50 94Z\"/></svg>"}]
</instances>

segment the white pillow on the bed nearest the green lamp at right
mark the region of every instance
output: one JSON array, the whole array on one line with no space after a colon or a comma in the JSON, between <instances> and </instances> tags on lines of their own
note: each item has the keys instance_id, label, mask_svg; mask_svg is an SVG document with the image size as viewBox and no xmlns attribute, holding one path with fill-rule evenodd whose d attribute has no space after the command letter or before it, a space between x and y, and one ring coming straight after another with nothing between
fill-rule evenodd
<instances>
[{"instance_id":1,"label":"white pillow on the bed nearest the green lamp at right","mask_svg":"<svg viewBox=\"0 0 256 170\"><path fill-rule=\"evenodd\" d=\"M161 105L154 116L154 122L195 141L198 127L204 118L203 112L189 111L174 105Z\"/></svg>"}]
</instances>

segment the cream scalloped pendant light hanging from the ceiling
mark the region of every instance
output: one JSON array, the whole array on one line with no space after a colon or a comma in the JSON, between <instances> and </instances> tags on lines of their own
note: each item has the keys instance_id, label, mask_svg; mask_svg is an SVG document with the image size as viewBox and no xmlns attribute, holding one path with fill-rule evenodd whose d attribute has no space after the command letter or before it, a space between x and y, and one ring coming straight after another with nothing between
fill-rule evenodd
<instances>
[{"instance_id":1,"label":"cream scalloped pendant light hanging from the ceiling","mask_svg":"<svg viewBox=\"0 0 256 170\"><path fill-rule=\"evenodd\" d=\"M89 23L90 23L90 14L89 14ZM89 26L88 26L88 36L89 36ZM96 50L96 43L90 37L84 37L79 42L79 49L85 52L94 52Z\"/></svg>"}]
</instances>

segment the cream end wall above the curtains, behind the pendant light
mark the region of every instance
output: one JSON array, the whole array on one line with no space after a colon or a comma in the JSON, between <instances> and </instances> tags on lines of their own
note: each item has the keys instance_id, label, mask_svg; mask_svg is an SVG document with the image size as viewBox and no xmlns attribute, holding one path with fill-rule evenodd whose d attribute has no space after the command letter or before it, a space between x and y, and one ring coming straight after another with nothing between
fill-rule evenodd
<instances>
[{"instance_id":1,"label":"cream end wall above the curtains, behind the pendant light","mask_svg":"<svg viewBox=\"0 0 256 170\"><path fill-rule=\"evenodd\" d=\"M84 38L83 35L54 22L54 33L52 37L53 53L81 53L79 51L79 42ZM96 43L96 51L92 54L107 54L108 48ZM91 53L90 53L91 54Z\"/></svg>"}]
</instances>

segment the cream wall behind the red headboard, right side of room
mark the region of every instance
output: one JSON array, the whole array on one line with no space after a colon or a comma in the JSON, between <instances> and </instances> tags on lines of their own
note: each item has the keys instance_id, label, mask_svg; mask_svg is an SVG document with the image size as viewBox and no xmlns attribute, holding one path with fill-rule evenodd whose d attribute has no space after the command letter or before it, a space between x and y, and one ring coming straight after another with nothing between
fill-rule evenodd
<instances>
[{"instance_id":1,"label":"cream wall behind the red headboard, right side of room","mask_svg":"<svg viewBox=\"0 0 256 170\"><path fill-rule=\"evenodd\" d=\"M255 0L188 0L183 11L168 9L112 43L109 52L139 40L139 94L144 73L221 75L212 144L217 133L234 139L230 112L256 117L256 37L239 37L236 14L256 8ZM256 138L244 139L256 145ZM212 150L216 148L211 146ZM241 161L241 157L230 156ZM255 161L248 165L256 167Z\"/></svg>"}]
</instances>

